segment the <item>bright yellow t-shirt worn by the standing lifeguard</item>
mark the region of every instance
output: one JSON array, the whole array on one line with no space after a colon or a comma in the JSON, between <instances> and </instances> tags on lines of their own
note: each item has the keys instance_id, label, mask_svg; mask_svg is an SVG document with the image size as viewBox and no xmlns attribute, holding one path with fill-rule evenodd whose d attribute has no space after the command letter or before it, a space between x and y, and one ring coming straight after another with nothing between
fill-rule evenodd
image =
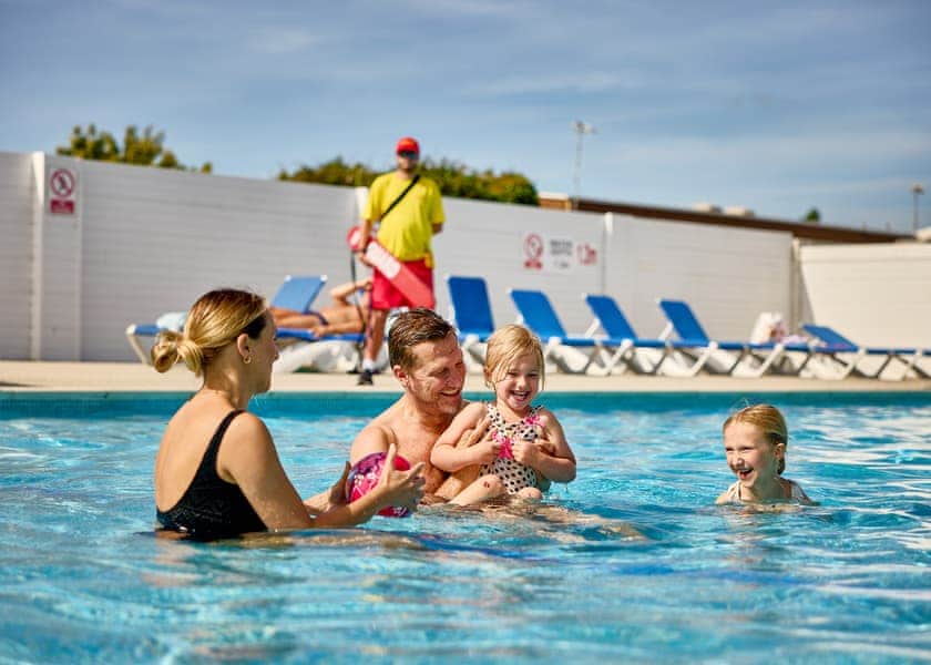
<instances>
[{"instance_id":1,"label":"bright yellow t-shirt worn by the standing lifeguard","mask_svg":"<svg viewBox=\"0 0 931 665\"><path fill-rule=\"evenodd\" d=\"M410 181L401 180L393 171L379 175L369 188L364 217L381 219L382 212L409 184ZM440 188L429 177L421 176L381 221L376 237L398 260L426 258L427 265L432 266L430 239L433 237L433 225L443 221Z\"/></svg>"}]
</instances>

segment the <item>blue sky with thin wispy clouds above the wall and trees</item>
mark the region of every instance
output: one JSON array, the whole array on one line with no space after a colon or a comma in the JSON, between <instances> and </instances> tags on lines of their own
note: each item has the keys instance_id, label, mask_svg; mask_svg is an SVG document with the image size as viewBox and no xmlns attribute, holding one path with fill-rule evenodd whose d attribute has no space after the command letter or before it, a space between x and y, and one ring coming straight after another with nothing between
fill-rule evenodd
<instances>
[{"instance_id":1,"label":"blue sky with thin wispy clouds above the wall and trees","mask_svg":"<svg viewBox=\"0 0 931 665\"><path fill-rule=\"evenodd\" d=\"M910 233L931 2L0 0L0 151L91 123L217 175L388 170L412 135L541 192Z\"/></svg>"}]
</instances>

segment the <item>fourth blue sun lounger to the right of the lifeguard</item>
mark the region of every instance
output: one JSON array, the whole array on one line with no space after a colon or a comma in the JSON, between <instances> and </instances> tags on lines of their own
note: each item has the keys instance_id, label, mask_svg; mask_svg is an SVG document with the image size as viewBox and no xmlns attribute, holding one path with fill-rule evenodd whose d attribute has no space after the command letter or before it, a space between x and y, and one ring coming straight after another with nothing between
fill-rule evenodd
<instances>
[{"instance_id":1,"label":"fourth blue sun lounger to the right of the lifeguard","mask_svg":"<svg viewBox=\"0 0 931 665\"><path fill-rule=\"evenodd\" d=\"M682 300L662 298L657 300L657 304L669 321L661 337L668 338L673 332L676 334L678 337L677 344L684 345L676 348L693 359L693 364L686 368L690 376L698 374L718 350L728 354L730 365L724 370L724 374L728 375L733 375L744 359L754 358L757 361L756 367L748 368L745 372L746 376L754 378L763 376L770 369L775 370L787 351L797 351L805 355L798 367L789 370L794 375L798 375L811 359L814 350L807 344L755 344L751 341L710 339L688 304Z\"/></svg>"}]
</instances>

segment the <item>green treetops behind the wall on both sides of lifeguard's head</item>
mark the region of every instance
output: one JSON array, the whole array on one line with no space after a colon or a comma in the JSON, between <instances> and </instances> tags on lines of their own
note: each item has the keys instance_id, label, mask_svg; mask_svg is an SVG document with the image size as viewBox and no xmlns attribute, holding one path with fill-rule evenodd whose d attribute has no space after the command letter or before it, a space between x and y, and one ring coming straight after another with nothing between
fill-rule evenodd
<instances>
[{"instance_id":1,"label":"green treetops behind the wall on both sides of lifeguard's head","mask_svg":"<svg viewBox=\"0 0 931 665\"><path fill-rule=\"evenodd\" d=\"M533 183L520 173L495 174L491 170L479 172L449 160L424 160L420 172L433 180L444 196L525 205L540 203ZM347 164L342 157L336 157L319 166L303 165L294 173L282 170L278 180L358 187L370 185L377 175L377 171L365 164Z\"/></svg>"}]
</instances>

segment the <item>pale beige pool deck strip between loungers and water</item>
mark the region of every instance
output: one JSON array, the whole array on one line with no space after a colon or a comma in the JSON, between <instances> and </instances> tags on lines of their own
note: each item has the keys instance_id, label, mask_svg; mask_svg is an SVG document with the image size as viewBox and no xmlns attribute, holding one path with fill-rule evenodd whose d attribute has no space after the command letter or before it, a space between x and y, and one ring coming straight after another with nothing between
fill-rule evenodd
<instances>
[{"instance_id":1,"label":"pale beige pool deck strip between loungers and water","mask_svg":"<svg viewBox=\"0 0 931 665\"><path fill-rule=\"evenodd\" d=\"M347 374L282 374L272 379L275 392L400 392L390 375L375 377L375 386L356 386ZM45 362L0 360L0 391L149 392L196 390L200 380L183 367L160 375L140 362ZM479 375L469 375L466 389L483 391ZM759 379L720 376L694 378L618 375L610 377L551 372L546 391L559 392L876 392L929 391L931 380L890 381L847 378L839 381L767 376Z\"/></svg>"}]
</instances>

